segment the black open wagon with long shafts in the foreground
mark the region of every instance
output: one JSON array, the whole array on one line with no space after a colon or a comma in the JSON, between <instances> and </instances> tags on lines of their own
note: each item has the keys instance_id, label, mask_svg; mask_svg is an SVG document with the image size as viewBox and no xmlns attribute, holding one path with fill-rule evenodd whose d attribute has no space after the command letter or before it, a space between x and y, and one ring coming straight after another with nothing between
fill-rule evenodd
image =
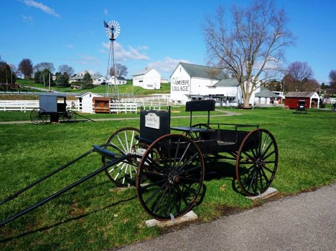
<instances>
[{"instance_id":1,"label":"black open wagon with long shafts in the foreground","mask_svg":"<svg viewBox=\"0 0 336 251\"><path fill-rule=\"evenodd\" d=\"M213 163L220 167L225 166L224 162L233 163L235 177L243 194L262 194L272 183L278 166L278 148L274 136L258 125L210 123L209 114L214 110L214 100L187 102L190 123L183 127L170 127L169 109L141 110L140 130L130 127L119 129L105 144L93 146L92 150L21 189L0 204L14 199L31 186L92 152L102 156L102 167L0 225L102 171L117 186L135 185L144 209L159 220L181 217L192 208L203 186L206 170ZM207 111L206 123L192 125L192 113L197 111ZM254 129L246 130L248 128ZM176 131L177 134L171 134L170 131Z\"/></svg>"}]
</instances>

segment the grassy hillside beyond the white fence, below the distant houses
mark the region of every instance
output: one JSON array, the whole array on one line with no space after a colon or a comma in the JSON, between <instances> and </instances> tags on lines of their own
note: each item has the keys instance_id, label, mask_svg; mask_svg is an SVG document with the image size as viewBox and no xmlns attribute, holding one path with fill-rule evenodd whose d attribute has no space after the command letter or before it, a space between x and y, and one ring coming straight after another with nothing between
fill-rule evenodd
<instances>
[{"instance_id":1,"label":"grassy hillside beyond the white fence, below the distant houses","mask_svg":"<svg viewBox=\"0 0 336 251\"><path fill-rule=\"evenodd\" d=\"M35 86L39 88L46 88L48 89L48 86L44 86L43 84L35 84L33 80L17 80L17 84L21 85L30 85ZM82 93L91 91L93 93L105 93L106 92L106 86L105 85L97 85L93 88L88 89L76 89L73 90L70 87L58 87L58 86L52 86L53 90L61 91L61 92L74 92L74 93ZM127 84L118 85L119 93L134 93L134 95L149 95L149 94L156 94L156 93L170 93L170 84L161 84L160 90L148 90L144 89L139 86L132 87L132 81L128 81ZM33 90L33 89L32 89Z\"/></svg>"}]
</instances>

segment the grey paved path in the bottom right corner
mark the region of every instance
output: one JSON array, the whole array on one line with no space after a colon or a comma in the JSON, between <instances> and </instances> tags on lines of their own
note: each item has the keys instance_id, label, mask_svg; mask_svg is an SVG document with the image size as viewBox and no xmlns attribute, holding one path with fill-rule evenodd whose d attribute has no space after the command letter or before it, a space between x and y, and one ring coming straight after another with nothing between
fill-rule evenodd
<instances>
[{"instance_id":1,"label":"grey paved path in the bottom right corner","mask_svg":"<svg viewBox=\"0 0 336 251\"><path fill-rule=\"evenodd\" d=\"M121 250L336 250L336 183Z\"/></svg>"}]
</instances>

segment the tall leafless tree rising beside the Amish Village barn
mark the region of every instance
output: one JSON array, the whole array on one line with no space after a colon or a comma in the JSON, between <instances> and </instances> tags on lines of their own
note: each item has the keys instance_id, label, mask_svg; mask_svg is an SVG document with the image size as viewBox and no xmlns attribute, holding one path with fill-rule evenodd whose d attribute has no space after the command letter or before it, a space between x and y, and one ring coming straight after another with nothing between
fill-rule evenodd
<instances>
[{"instance_id":1,"label":"tall leafless tree rising beside the Amish Village barn","mask_svg":"<svg viewBox=\"0 0 336 251\"><path fill-rule=\"evenodd\" d=\"M224 8L214 18L206 18L205 43L209 63L228 70L239 82L243 107L249 106L252 92L261 81L274 79L283 50L293 44L283 9L276 10L273 1L255 0L251 6L232 8L232 25L228 27Z\"/></svg>"}]
</instances>

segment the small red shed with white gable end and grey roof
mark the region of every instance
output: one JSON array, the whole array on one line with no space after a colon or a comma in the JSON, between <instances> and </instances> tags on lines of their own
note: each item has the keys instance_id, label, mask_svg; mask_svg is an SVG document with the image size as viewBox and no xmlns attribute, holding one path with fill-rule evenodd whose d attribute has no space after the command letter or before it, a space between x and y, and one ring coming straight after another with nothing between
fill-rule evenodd
<instances>
[{"instance_id":1,"label":"small red shed with white gable end and grey roof","mask_svg":"<svg viewBox=\"0 0 336 251\"><path fill-rule=\"evenodd\" d=\"M306 100L306 108L318 108L320 97L317 92L292 91L285 95L285 105L290 109L298 108L298 101Z\"/></svg>"}]
</instances>

